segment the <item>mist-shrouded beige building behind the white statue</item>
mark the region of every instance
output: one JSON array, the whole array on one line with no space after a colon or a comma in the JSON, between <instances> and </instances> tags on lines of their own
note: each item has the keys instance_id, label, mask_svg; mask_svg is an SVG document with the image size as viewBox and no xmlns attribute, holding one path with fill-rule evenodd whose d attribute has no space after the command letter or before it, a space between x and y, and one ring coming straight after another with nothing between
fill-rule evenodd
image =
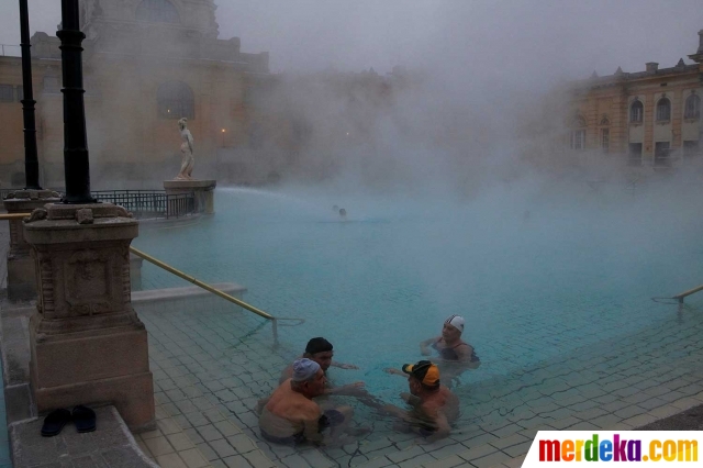
<instances>
[{"instance_id":1,"label":"mist-shrouded beige building behind the white statue","mask_svg":"<svg viewBox=\"0 0 703 468\"><path fill-rule=\"evenodd\" d=\"M215 8L213 0L81 1L93 187L158 188L154 181L174 177L182 116L200 178L214 176L219 149L260 138L260 122L270 119L248 94L272 79L268 53L241 52L238 37L219 40ZM60 42L46 33L31 42L41 183L63 187ZM24 185L22 92L20 57L0 57L0 188Z\"/></svg>"}]
</instances>

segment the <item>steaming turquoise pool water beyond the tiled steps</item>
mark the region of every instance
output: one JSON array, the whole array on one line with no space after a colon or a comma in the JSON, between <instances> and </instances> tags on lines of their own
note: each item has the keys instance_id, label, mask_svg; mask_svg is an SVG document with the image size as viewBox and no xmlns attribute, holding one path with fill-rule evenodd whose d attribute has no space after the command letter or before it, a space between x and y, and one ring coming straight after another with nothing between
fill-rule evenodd
<instances>
[{"instance_id":1,"label":"steaming turquoise pool water beyond the tiled steps","mask_svg":"<svg viewBox=\"0 0 703 468\"><path fill-rule=\"evenodd\" d=\"M455 382L470 400L544 363L584 356L588 368L637 336L654 349L659 327L700 326L699 299L683 317L650 299L703 282L703 219L672 187L473 200L225 188L214 216L143 225L134 245L204 281L247 287L245 300L274 315L305 319L281 327L286 348L327 337L338 360L360 367L335 370L335 381L364 380L389 402L406 383L382 369L420 359L419 342L460 314L482 361ZM144 289L183 285L144 264ZM681 374L699 371L700 349L681 353Z\"/></svg>"}]
</instances>

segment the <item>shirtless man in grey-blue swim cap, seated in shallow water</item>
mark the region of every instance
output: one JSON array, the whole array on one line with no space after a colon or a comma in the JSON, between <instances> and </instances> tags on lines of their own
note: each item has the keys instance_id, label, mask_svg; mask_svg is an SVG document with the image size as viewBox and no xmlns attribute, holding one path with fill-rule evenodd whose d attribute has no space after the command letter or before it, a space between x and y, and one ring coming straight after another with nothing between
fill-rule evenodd
<instances>
[{"instance_id":1,"label":"shirtless man in grey-blue swim cap, seated in shallow water","mask_svg":"<svg viewBox=\"0 0 703 468\"><path fill-rule=\"evenodd\" d=\"M297 445L305 442L330 445L341 441L352 417L350 406L322 411L312 399L325 390L325 374L317 363L295 359L291 378L271 394L259 416L261 437L276 444ZM330 431L325 431L330 428Z\"/></svg>"}]
</instances>

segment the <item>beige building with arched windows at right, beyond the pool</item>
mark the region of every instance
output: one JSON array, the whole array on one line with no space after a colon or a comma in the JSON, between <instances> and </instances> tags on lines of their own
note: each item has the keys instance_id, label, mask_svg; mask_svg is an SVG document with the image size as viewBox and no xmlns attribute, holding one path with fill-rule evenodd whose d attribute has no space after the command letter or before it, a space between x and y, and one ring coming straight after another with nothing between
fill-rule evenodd
<instances>
[{"instance_id":1,"label":"beige building with arched windows at right, beyond the pool","mask_svg":"<svg viewBox=\"0 0 703 468\"><path fill-rule=\"evenodd\" d=\"M622 155L631 166L672 167L703 158L703 31L689 58L670 68L646 64L645 71L577 81L568 146L577 152Z\"/></svg>"}]
</instances>

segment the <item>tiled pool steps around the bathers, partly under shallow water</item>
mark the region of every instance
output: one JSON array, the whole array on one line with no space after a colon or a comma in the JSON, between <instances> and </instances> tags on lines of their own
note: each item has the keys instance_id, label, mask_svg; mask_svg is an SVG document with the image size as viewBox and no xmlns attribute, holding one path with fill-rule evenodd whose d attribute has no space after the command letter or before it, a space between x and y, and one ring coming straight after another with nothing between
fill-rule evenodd
<instances>
[{"instance_id":1,"label":"tiled pool steps around the bathers, partly under shallow water","mask_svg":"<svg viewBox=\"0 0 703 468\"><path fill-rule=\"evenodd\" d=\"M419 445L357 406L372 434L294 450L258 436L257 400L294 355L272 346L270 325L216 298L190 311L138 312L160 417L141 445L164 467L513 467L540 428L627 430L703 403L703 314L662 305L661 322L634 335L461 388L470 414L438 443Z\"/></svg>"}]
</instances>

